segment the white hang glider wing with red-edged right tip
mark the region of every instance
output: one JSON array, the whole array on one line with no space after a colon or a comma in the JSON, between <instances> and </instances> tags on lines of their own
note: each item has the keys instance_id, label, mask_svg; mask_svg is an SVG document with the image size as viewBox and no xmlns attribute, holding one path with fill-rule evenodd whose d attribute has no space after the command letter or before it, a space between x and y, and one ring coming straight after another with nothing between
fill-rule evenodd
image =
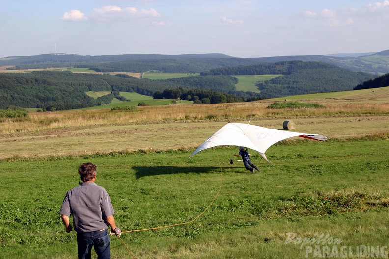
<instances>
[{"instance_id":1,"label":"white hang glider wing with red-edged right tip","mask_svg":"<svg viewBox=\"0 0 389 259\"><path fill-rule=\"evenodd\" d=\"M195 152L192 153L192 155L215 146L243 146L257 151L259 155L270 163L266 158L265 151L278 141L291 137L303 137L319 141L326 141L328 139L319 134L268 129L250 124L230 122L210 136L195 150Z\"/></svg>"}]
</instances>

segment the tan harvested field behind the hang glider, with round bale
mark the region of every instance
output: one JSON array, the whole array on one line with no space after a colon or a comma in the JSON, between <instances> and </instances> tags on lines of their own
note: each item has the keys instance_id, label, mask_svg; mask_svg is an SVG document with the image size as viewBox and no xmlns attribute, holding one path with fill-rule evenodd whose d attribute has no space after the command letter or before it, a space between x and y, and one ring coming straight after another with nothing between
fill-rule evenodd
<instances>
[{"instance_id":1,"label":"tan harvested field behind the hang glider, with round bale","mask_svg":"<svg viewBox=\"0 0 389 259\"><path fill-rule=\"evenodd\" d=\"M379 93L379 94L377 94ZM331 139L389 136L389 87L353 96L309 99L321 109L267 109L275 102L165 105L135 112L110 110L33 112L29 120L0 124L0 159L111 151L185 149L190 154L227 122L282 129L293 120L302 133ZM301 98L301 97L300 97ZM284 102L284 101L280 101Z\"/></svg>"}]
</instances>

